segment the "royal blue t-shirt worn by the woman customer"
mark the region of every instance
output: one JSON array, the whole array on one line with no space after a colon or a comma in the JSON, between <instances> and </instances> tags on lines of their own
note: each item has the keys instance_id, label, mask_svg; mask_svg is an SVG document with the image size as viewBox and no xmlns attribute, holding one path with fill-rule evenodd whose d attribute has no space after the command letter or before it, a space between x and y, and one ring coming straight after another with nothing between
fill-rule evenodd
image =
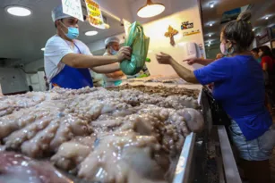
<instances>
[{"instance_id":1,"label":"royal blue t-shirt worn by the woman customer","mask_svg":"<svg viewBox=\"0 0 275 183\"><path fill-rule=\"evenodd\" d=\"M221 58L193 73L202 85L214 83L213 97L246 140L262 136L271 127L271 114L264 106L262 68L252 56Z\"/></svg>"}]
</instances>

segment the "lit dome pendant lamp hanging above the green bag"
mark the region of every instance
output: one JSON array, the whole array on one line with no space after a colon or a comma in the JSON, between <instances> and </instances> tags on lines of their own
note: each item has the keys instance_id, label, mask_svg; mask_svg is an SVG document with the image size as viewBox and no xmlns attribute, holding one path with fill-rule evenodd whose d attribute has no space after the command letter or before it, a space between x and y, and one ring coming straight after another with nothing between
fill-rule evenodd
<instances>
[{"instance_id":1,"label":"lit dome pendant lamp hanging above the green bag","mask_svg":"<svg viewBox=\"0 0 275 183\"><path fill-rule=\"evenodd\" d=\"M142 18L150 18L159 15L164 10L164 4L153 3L151 0L147 0L146 5L139 9L137 15Z\"/></svg>"}]
</instances>

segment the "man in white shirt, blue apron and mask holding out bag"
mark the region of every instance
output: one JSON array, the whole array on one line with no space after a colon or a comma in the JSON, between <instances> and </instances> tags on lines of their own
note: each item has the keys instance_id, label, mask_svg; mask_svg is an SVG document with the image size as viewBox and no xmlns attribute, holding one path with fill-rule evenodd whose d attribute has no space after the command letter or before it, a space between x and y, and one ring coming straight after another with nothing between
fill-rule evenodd
<instances>
[{"instance_id":1,"label":"man in white shirt, blue apron and mask holding out bag","mask_svg":"<svg viewBox=\"0 0 275 183\"><path fill-rule=\"evenodd\" d=\"M93 87L90 69L98 73L120 71L119 62L130 59L131 48L122 47L116 55L93 56L88 46L77 40L78 19L63 13L62 5L52 11L56 35L47 40L44 64L51 87L79 89Z\"/></svg>"}]
</instances>

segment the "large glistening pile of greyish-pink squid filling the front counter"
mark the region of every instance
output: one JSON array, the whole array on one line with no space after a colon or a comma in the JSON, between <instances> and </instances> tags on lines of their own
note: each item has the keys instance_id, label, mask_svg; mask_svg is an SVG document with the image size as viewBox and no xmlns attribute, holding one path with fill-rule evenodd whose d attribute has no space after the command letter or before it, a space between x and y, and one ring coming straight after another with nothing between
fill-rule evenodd
<instances>
[{"instance_id":1,"label":"large glistening pile of greyish-pink squid filling the front counter","mask_svg":"<svg viewBox=\"0 0 275 183\"><path fill-rule=\"evenodd\" d=\"M169 182L185 137L203 129L197 108L190 95L101 87L0 97L0 182L73 182L56 168L90 182Z\"/></svg>"}]
</instances>

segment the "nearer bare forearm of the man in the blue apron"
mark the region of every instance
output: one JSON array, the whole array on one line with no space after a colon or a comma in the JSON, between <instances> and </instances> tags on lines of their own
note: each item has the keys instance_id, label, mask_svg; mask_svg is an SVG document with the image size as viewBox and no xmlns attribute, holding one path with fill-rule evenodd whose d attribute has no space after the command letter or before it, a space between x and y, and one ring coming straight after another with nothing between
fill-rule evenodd
<instances>
[{"instance_id":1,"label":"nearer bare forearm of the man in the blue apron","mask_svg":"<svg viewBox=\"0 0 275 183\"><path fill-rule=\"evenodd\" d=\"M92 56L86 54L66 54L62 61L73 68L93 68L117 62L115 56Z\"/></svg>"}]
</instances>

